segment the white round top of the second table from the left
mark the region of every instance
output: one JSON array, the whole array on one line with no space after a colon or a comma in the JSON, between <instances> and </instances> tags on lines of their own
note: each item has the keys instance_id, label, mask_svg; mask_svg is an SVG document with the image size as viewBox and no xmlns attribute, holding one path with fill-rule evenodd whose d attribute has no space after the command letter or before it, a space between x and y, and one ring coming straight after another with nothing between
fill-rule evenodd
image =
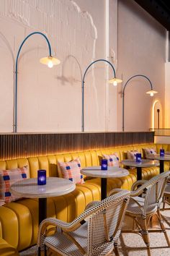
<instances>
[{"instance_id":1,"label":"white round top of the second table from the left","mask_svg":"<svg viewBox=\"0 0 170 256\"><path fill-rule=\"evenodd\" d=\"M81 174L91 177L99 178L118 178L123 176L128 176L129 171L125 168L119 168L116 166L108 166L106 171L101 170L101 166L91 166L81 169Z\"/></svg>"}]
</instances>

